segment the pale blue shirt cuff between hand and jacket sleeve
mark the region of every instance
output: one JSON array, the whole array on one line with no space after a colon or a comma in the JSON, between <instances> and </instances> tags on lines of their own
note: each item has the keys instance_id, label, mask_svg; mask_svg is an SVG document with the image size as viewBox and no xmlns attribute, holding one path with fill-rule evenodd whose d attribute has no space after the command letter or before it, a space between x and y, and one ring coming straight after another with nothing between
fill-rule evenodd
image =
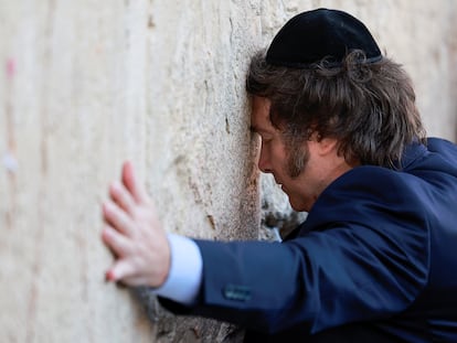
<instances>
[{"instance_id":1,"label":"pale blue shirt cuff between hand and jacket sleeve","mask_svg":"<svg viewBox=\"0 0 457 343\"><path fill-rule=\"evenodd\" d=\"M157 296L182 304L195 303L203 275L203 260L199 246L192 239L168 234L171 266L164 283L152 290Z\"/></svg>"}]
</instances>

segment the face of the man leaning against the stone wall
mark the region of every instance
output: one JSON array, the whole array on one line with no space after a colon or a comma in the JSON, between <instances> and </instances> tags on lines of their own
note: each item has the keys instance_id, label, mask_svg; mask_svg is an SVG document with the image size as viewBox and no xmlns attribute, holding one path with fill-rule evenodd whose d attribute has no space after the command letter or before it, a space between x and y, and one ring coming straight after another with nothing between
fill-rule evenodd
<instances>
[{"instance_id":1,"label":"face of the man leaning against the stone wall","mask_svg":"<svg viewBox=\"0 0 457 343\"><path fill-rule=\"evenodd\" d=\"M290 151L283 132L269 120L269 107L268 99L253 97L251 127L262 139L258 168L274 175L294 210L309 211L327 185L346 172L349 165L338 157L336 141L330 139L316 140L311 137ZM293 175L290 165L297 159L301 159L302 168Z\"/></svg>"}]
</instances>

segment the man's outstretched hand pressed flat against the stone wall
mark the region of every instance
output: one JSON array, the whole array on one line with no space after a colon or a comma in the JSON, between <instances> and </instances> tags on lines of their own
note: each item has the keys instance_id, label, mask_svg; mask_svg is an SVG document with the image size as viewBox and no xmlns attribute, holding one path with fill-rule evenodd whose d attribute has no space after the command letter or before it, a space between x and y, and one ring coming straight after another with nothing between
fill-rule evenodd
<instances>
[{"instance_id":1,"label":"man's outstretched hand pressed flat against the stone wall","mask_svg":"<svg viewBox=\"0 0 457 343\"><path fill-rule=\"evenodd\" d=\"M109 186L109 196L103 204L106 227L102 239L114 253L115 262L106 279L127 286L161 286L170 269L170 246L130 162L123 165L121 182Z\"/></svg>"}]
</instances>

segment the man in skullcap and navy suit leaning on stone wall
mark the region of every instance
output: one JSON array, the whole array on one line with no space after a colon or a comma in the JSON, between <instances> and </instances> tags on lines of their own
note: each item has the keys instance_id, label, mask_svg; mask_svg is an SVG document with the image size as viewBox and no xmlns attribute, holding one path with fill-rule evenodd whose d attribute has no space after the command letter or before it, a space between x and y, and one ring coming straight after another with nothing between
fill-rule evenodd
<instances>
[{"instance_id":1,"label":"man in skullcap and navy suit leaning on stone wall","mask_svg":"<svg viewBox=\"0 0 457 343\"><path fill-rule=\"evenodd\" d=\"M258 167L306 222L281 244L167 236L126 163L104 205L107 278L251 342L457 342L457 148L425 138L404 71L319 9L253 58L247 92Z\"/></svg>"}]
</instances>

